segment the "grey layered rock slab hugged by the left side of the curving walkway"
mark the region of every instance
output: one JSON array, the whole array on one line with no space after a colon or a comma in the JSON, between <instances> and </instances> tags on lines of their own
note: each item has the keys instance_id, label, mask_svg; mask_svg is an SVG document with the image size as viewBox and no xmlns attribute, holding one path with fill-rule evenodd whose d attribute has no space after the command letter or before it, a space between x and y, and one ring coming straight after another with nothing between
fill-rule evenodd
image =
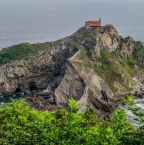
<instances>
[{"instance_id":1,"label":"grey layered rock slab hugged by the left side of the curving walkway","mask_svg":"<svg viewBox=\"0 0 144 145\"><path fill-rule=\"evenodd\" d=\"M67 106L70 98L74 98L76 101L80 100L85 87L84 80L70 64L67 64L65 75L54 92L57 105Z\"/></svg>"}]
</instances>

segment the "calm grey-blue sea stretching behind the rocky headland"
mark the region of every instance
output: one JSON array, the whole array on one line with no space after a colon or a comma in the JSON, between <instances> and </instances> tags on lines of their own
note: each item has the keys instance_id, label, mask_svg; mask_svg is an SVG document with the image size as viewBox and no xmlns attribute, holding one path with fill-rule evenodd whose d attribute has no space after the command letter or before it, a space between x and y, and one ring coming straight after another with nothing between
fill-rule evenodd
<instances>
[{"instance_id":1,"label":"calm grey-blue sea stretching behind the rocky headland","mask_svg":"<svg viewBox=\"0 0 144 145\"><path fill-rule=\"evenodd\" d=\"M119 34L144 41L144 2L95 0L0 0L0 48L55 41L84 26L86 20L112 23Z\"/></svg>"}]
</instances>

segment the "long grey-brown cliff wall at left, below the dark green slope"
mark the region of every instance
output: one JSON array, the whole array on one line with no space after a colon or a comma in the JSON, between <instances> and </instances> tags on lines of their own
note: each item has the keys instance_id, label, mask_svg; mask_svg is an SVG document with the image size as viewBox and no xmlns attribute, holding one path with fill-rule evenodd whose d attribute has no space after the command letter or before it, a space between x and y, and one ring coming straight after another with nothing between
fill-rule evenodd
<instances>
[{"instance_id":1,"label":"long grey-brown cliff wall at left, below the dark green slope","mask_svg":"<svg viewBox=\"0 0 144 145\"><path fill-rule=\"evenodd\" d=\"M74 47L59 44L25 60L3 65L0 68L0 95L11 95L17 88L30 94L31 91L47 89L53 82L50 85L51 92L64 75L67 58L74 52Z\"/></svg>"}]
</instances>

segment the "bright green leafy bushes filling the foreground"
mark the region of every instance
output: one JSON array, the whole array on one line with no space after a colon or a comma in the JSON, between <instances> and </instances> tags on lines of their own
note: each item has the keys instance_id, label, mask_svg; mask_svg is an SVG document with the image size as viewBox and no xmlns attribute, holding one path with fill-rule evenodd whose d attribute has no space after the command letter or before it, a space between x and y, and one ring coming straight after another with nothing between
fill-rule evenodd
<instances>
[{"instance_id":1,"label":"bright green leafy bushes filling the foreground","mask_svg":"<svg viewBox=\"0 0 144 145\"><path fill-rule=\"evenodd\" d=\"M129 99L128 101L131 101ZM143 145L144 126L133 129L118 109L109 122L92 109L80 113L74 100L69 111L38 111L23 100L0 107L1 145Z\"/></svg>"}]
</instances>

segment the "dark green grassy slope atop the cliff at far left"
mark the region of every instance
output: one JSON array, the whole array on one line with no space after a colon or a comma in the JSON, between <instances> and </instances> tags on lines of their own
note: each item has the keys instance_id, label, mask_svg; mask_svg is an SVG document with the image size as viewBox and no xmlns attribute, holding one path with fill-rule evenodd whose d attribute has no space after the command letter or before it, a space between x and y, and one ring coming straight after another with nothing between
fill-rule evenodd
<instances>
[{"instance_id":1,"label":"dark green grassy slope atop the cliff at far left","mask_svg":"<svg viewBox=\"0 0 144 145\"><path fill-rule=\"evenodd\" d=\"M28 55L34 55L40 50L49 49L51 45L52 43L22 43L4 48L0 51L0 65L9 63L13 60L23 59Z\"/></svg>"}]
</instances>

